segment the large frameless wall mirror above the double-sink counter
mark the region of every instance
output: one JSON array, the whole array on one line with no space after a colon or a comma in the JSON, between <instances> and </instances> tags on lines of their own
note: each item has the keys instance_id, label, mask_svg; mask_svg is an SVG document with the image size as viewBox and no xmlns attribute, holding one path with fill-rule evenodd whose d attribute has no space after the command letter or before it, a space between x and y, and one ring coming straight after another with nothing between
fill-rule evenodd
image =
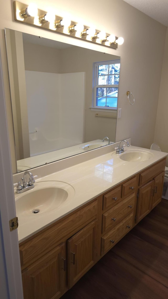
<instances>
[{"instance_id":1,"label":"large frameless wall mirror above the double-sink counter","mask_svg":"<svg viewBox=\"0 0 168 299\"><path fill-rule=\"evenodd\" d=\"M11 29L5 35L17 172L108 145L106 136L115 142L117 102L108 110L107 94L117 97L118 88L104 88L112 76L100 62L120 57ZM95 64L102 109L91 108Z\"/></svg>"}]
</instances>

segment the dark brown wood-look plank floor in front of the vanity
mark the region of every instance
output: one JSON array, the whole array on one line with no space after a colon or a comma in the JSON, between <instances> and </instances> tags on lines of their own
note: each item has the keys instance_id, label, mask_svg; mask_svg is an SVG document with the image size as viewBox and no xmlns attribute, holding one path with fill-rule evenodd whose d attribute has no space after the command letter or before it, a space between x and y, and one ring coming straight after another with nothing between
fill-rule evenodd
<instances>
[{"instance_id":1,"label":"dark brown wood-look plank floor in front of the vanity","mask_svg":"<svg viewBox=\"0 0 168 299\"><path fill-rule=\"evenodd\" d=\"M162 201L61 299L167 299L168 200Z\"/></svg>"}]
</instances>

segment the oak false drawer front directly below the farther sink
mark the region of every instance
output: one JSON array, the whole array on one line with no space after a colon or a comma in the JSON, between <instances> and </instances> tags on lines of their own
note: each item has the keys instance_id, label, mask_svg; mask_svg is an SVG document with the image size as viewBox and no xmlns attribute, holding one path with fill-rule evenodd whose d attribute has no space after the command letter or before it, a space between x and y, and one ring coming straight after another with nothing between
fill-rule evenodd
<instances>
[{"instance_id":1,"label":"oak false drawer front directly below the farther sink","mask_svg":"<svg viewBox=\"0 0 168 299\"><path fill-rule=\"evenodd\" d=\"M144 170L141 172L139 177L139 186L144 185L151 179L153 179L155 176L157 176L159 173L165 170L166 165L166 158L155 165L149 167L147 170Z\"/></svg>"}]
</instances>

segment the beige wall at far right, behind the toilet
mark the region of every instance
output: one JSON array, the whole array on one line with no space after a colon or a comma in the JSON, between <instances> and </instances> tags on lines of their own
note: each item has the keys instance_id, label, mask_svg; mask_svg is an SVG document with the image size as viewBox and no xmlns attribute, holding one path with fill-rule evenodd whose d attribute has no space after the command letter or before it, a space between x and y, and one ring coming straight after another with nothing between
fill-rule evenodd
<instances>
[{"instance_id":1,"label":"beige wall at far right, behind the toilet","mask_svg":"<svg viewBox=\"0 0 168 299\"><path fill-rule=\"evenodd\" d=\"M154 142L158 143L162 152L168 152L168 28L164 48L163 67L158 100Z\"/></svg>"}]
</instances>

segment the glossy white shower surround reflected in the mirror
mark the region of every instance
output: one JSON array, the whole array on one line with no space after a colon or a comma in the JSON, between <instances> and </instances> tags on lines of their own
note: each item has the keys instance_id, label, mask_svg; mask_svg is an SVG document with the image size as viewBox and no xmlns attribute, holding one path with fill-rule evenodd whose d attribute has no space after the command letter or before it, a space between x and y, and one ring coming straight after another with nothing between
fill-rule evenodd
<instances>
[{"instance_id":1,"label":"glossy white shower surround reflected in the mirror","mask_svg":"<svg viewBox=\"0 0 168 299\"><path fill-rule=\"evenodd\" d=\"M30 156L84 142L85 73L25 71Z\"/></svg>"}]
</instances>

